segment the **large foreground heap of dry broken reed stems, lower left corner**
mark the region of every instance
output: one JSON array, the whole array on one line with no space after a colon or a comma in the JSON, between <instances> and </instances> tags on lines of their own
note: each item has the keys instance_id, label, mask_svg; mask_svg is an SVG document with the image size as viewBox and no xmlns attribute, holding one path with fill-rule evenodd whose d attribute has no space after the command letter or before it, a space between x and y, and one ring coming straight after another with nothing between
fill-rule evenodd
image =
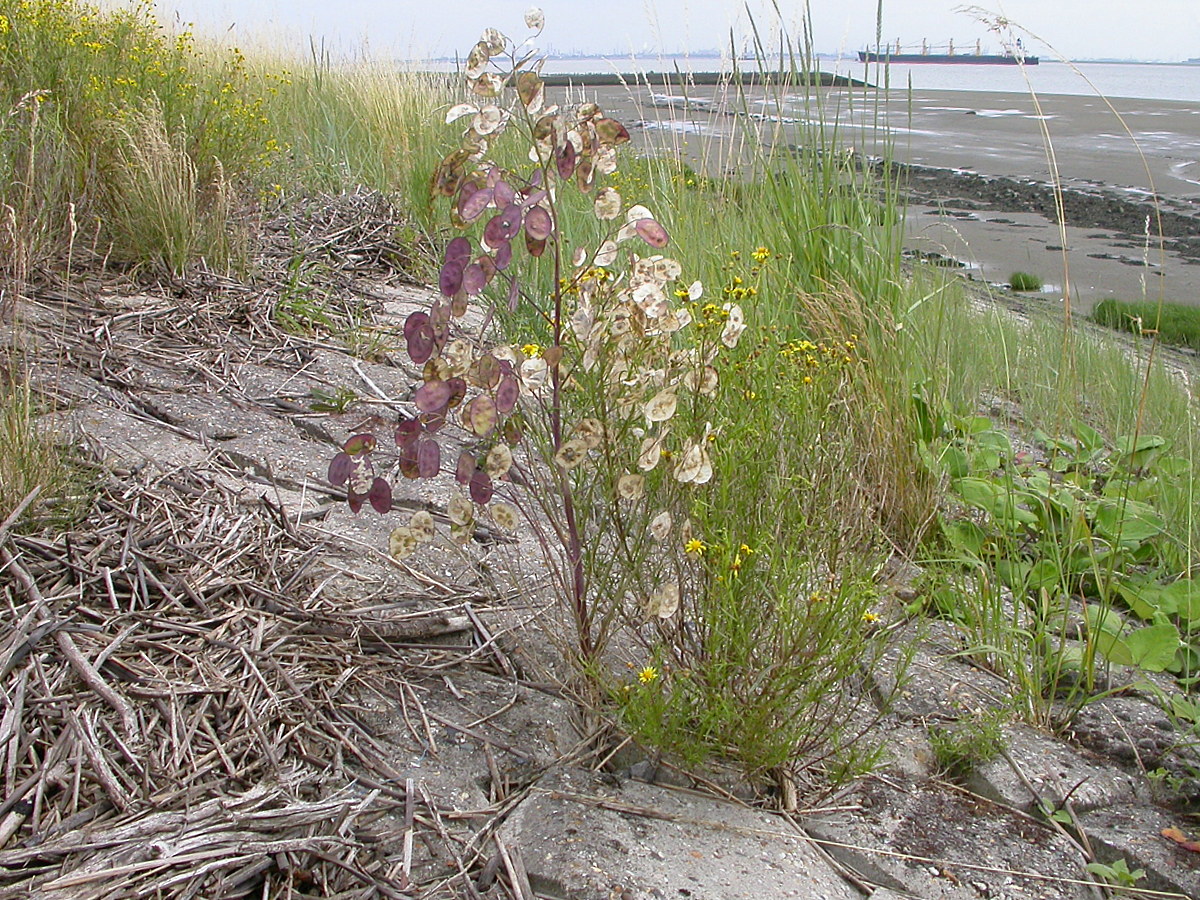
<instances>
[{"instance_id":1,"label":"large foreground heap of dry broken reed stems, lower left corner","mask_svg":"<svg viewBox=\"0 0 1200 900\"><path fill-rule=\"evenodd\" d=\"M407 895L430 810L354 706L448 617L296 605L314 550L187 473L89 524L0 548L0 896Z\"/></svg>"}]
</instances>

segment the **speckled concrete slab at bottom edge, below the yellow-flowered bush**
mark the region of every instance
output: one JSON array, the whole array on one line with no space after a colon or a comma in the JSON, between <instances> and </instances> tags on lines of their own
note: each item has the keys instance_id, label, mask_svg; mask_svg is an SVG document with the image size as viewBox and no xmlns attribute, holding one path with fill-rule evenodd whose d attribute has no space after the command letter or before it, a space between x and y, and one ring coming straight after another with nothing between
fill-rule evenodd
<instances>
[{"instance_id":1,"label":"speckled concrete slab at bottom edge, below the yellow-flowered bush","mask_svg":"<svg viewBox=\"0 0 1200 900\"><path fill-rule=\"evenodd\" d=\"M547 775L500 836L534 890L559 900L862 899L778 817L578 769Z\"/></svg>"}]
</instances>

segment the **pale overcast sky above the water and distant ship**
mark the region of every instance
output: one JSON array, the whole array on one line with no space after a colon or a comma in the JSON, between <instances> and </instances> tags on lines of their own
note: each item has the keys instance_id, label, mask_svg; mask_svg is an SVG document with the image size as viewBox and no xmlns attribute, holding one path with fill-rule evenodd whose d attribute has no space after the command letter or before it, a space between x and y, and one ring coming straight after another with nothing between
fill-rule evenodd
<instances>
[{"instance_id":1,"label":"pale overcast sky above the water and distant ship","mask_svg":"<svg viewBox=\"0 0 1200 900\"><path fill-rule=\"evenodd\" d=\"M232 41L292 42L308 36L372 55L422 58L466 53L493 25L523 37L527 0L157 0L163 18L227 32ZM744 44L749 7L760 31L778 34L772 0L544 0L542 48L589 53L727 48ZM878 0L811 0L817 52L852 52L875 41ZM883 0L882 37L919 44L953 40L958 47L1000 49L978 13L953 0ZM1200 0L983 0L1068 58L1182 60L1200 56ZM799 34L805 4L778 0L782 23ZM257 38L257 40L256 40ZM1026 35L1028 49L1052 55Z\"/></svg>"}]
</instances>

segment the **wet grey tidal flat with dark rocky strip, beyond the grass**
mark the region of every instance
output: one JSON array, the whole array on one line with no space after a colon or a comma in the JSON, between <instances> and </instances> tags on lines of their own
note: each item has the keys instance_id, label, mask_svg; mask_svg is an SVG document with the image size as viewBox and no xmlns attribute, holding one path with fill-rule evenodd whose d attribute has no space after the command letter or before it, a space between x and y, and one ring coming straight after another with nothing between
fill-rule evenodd
<instances>
[{"instance_id":1,"label":"wet grey tidal flat with dark rocky strip, beyond the grass","mask_svg":"<svg viewBox=\"0 0 1200 900\"><path fill-rule=\"evenodd\" d=\"M746 151L737 136L748 116L767 140L785 144L796 144L797 130L816 116L811 103L779 103L769 89L754 89L744 102L719 88L587 92L636 122L631 131L643 146L709 173L739 168ZM1099 97L886 96L860 88L822 89L820 98L826 121L836 121L864 156L882 155L890 140L893 158L905 164L914 253L958 260L970 277L992 283L1033 272L1046 289L1025 296L1062 302L1069 286L1076 310L1106 296L1200 305L1195 104L1116 98L1110 108ZM1064 191L1062 228L1055 176Z\"/></svg>"}]
</instances>

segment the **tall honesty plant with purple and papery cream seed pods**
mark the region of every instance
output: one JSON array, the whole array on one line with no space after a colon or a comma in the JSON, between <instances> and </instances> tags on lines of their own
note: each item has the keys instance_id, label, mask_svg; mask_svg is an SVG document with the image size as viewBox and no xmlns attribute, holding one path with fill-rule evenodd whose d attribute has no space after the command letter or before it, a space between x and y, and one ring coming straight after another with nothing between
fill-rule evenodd
<instances>
[{"instance_id":1,"label":"tall honesty plant with purple and papery cream seed pods","mask_svg":"<svg viewBox=\"0 0 1200 900\"><path fill-rule=\"evenodd\" d=\"M668 455L676 484L709 481L712 427L692 427L698 433L691 434L680 428L676 436L671 425L684 395L716 394L714 359L721 347L737 344L745 325L742 310L727 304L719 337L689 341L680 334L701 284L684 287L673 259L638 256L665 247L667 232L648 209L626 205L604 185L629 132L592 102L547 106L541 60L530 47L542 28L541 12L527 12L526 24L533 35L521 44L494 29L484 32L467 58L472 100L446 113L448 122L467 127L460 146L438 164L431 190L449 200L451 224L461 234L445 247L440 295L404 323L407 353L421 367L414 409L385 438L362 433L347 440L329 480L347 486L352 510L370 502L388 512L391 485L376 474L373 457L390 443L403 478L454 473L460 487L446 514L458 540L469 539L481 515L505 530L524 510L552 515L588 659L595 646L583 564L589 514L576 509L577 479L588 478L582 464L590 458L607 466L611 500L629 505L649 502L647 474ZM490 150L509 138L528 149L528 170L491 161ZM569 259L559 233L568 192L592 198L595 221L594 234L571 235L576 250ZM546 293L533 278L539 266L552 270ZM474 334L463 325L473 305L515 312L522 304L548 326L547 348L485 343L491 316ZM444 452L448 428L460 448L456 456ZM529 440L530 431L538 440ZM559 474L546 481L522 468L539 464ZM539 490L547 484L554 493L550 504L496 499L498 492L512 498L515 485ZM670 516L667 523L670 532ZM406 557L433 532L432 517L419 512L392 533L390 551ZM658 584L643 605L665 618L678 607L678 583Z\"/></svg>"}]
</instances>

